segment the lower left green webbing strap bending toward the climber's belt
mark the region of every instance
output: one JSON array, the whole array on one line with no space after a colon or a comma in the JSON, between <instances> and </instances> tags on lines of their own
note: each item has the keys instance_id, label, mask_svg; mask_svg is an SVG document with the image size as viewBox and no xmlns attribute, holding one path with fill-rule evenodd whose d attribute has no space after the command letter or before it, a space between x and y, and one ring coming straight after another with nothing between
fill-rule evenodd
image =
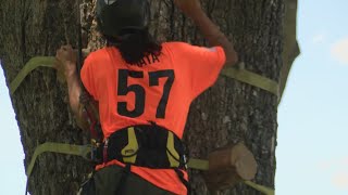
<instances>
[{"instance_id":1,"label":"lower left green webbing strap bending toward the climber's belt","mask_svg":"<svg viewBox=\"0 0 348 195\"><path fill-rule=\"evenodd\" d=\"M90 153L91 147L89 145L71 145L63 143L51 143L47 142L36 147L34 155L32 157L30 164L26 170L26 176L29 179L35 166L35 161L39 155L46 152L60 153L67 155L76 155L87 158L87 155Z\"/></svg>"}]
</instances>

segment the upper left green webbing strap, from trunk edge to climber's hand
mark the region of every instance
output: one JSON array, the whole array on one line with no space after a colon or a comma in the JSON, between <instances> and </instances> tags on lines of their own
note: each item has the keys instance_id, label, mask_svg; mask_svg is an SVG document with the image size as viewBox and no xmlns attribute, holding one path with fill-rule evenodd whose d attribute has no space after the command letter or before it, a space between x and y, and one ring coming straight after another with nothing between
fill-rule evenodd
<instances>
[{"instance_id":1,"label":"upper left green webbing strap, from trunk edge to climber's hand","mask_svg":"<svg viewBox=\"0 0 348 195\"><path fill-rule=\"evenodd\" d=\"M34 69L39 66L42 67L53 67L55 62L55 57L53 56L36 56L29 60L25 64L25 66L21 69L18 75L14 78L14 80L10 83L10 93L13 94L17 87L22 83L24 78Z\"/></svg>"}]
</instances>

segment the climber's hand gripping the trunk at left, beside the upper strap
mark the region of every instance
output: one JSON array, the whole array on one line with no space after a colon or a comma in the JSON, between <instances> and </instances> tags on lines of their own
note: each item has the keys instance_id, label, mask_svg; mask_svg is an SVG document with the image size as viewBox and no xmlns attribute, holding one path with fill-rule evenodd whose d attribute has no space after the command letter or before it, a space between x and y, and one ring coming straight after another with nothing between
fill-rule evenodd
<instances>
[{"instance_id":1,"label":"climber's hand gripping the trunk at left, beside the upper strap","mask_svg":"<svg viewBox=\"0 0 348 195\"><path fill-rule=\"evenodd\" d=\"M62 46L57 50L55 58L58 60L57 69L62 68L65 77L76 74L76 51L71 46Z\"/></svg>"}]
</instances>

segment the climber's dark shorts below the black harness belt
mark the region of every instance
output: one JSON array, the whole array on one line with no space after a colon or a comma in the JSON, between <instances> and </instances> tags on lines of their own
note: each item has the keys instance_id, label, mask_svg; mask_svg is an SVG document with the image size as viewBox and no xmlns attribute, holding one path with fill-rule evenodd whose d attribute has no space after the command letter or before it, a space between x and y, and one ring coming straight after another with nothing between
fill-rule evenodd
<instances>
[{"instance_id":1,"label":"climber's dark shorts below the black harness belt","mask_svg":"<svg viewBox=\"0 0 348 195\"><path fill-rule=\"evenodd\" d=\"M98 170L84 183L79 195L172 195L139 176L120 166L108 166Z\"/></svg>"}]
</instances>

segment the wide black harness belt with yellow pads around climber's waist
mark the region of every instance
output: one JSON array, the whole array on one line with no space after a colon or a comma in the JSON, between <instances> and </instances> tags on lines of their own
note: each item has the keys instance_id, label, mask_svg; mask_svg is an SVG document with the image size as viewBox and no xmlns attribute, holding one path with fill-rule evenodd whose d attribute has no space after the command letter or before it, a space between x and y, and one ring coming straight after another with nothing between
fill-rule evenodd
<instances>
[{"instance_id":1,"label":"wide black harness belt with yellow pads around climber's waist","mask_svg":"<svg viewBox=\"0 0 348 195\"><path fill-rule=\"evenodd\" d=\"M186 169L185 147L172 131L157 125L141 125L117 130L103 145L104 162L153 169Z\"/></svg>"}]
</instances>

